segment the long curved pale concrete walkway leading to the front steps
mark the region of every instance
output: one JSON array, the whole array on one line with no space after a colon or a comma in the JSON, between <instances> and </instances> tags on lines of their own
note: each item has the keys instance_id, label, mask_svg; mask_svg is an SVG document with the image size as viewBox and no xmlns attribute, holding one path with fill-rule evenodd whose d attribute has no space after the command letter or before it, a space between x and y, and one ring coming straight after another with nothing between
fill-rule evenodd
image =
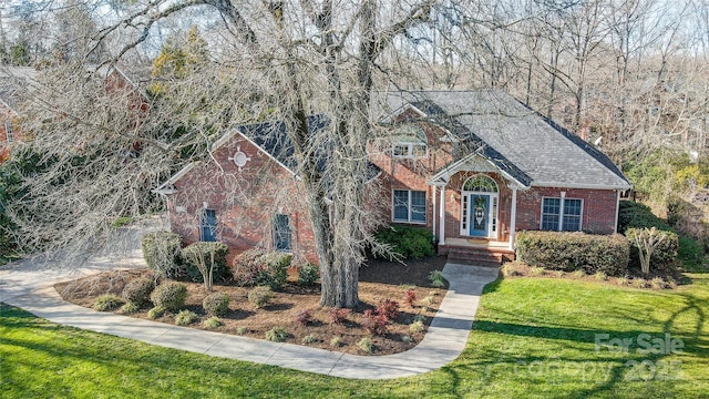
<instances>
[{"instance_id":1,"label":"long curved pale concrete walkway leading to the front steps","mask_svg":"<svg viewBox=\"0 0 709 399\"><path fill-rule=\"evenodd\" d=\"M163 347L343 378L386 379L435 370L458 358L467 342L483 287L497 277L495 268L446 264L443 275L450 289L423 340L402 354L357 356L99 313L63 301L52 288L54 283L115 266L144 267L140 250L127 254L122 259L99 254L81 260L59 256L18 262L0 269L0 301L53 323Z\"/></svg>"}]
</instances>

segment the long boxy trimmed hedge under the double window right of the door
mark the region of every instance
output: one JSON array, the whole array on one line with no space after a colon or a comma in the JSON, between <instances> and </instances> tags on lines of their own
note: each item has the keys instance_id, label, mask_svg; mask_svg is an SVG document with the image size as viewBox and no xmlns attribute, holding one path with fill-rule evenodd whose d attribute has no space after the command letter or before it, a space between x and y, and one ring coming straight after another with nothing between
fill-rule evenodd
<instances>
[{"instance_id":1,"label":"long boxy trimmed hedge under the double window right of the door","mask_svg":"<svg viewBox=\"0 0 709 399\"><path fill-rule=\"evenodd\" d=\"M586 274L604 272L609 276L623 276L628 270L629 245L619 234L520 232L516 245L517 260L530 266Z\"/></svg>"}]
</instances>

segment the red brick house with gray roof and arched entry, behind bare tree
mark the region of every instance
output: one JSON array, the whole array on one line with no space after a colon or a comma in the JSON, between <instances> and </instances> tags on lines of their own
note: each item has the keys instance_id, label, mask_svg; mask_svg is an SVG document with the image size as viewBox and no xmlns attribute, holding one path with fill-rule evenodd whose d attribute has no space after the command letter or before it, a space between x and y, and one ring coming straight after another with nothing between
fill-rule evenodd
<instances>
[{"instance_id":1,"label":"red brick house with gray roof and arched entry, behind bare tree","mask_svg":"<svg viewBox=\"0 0 709 399\"><path fill-rule=\"evenodd\" d=\"M600 151L502 91L387 96L384 144L370 146L371 178L392 224L431 229L439 254L497 263L522 229L616 232L630 188ZM284 134L242 126L163 184L172 229L317 260L305 188ZM285 129L277 125L276 129ZM280 137L276 140L275 137ZM228 192L235 195L224 195Z\"/></svg>"}]
</instances>

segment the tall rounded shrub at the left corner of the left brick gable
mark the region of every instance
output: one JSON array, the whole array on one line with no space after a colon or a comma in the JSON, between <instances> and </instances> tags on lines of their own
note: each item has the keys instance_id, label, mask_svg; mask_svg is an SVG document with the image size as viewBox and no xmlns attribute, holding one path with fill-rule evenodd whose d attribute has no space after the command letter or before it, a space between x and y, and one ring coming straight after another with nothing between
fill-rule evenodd
<instances>
[{"instance_id":1,"label":"tall rounded shrub at the left corner of the left brick gable","mask_svg":"<svg viewBox=\"0 0 709 399\"><path fill-rule=\"evenodd\" d=\"M182 237L171 232L154 232L141 239L147 267L165 278L182 278L184 269L179 259Z\"/></svg>"}]
</instances>

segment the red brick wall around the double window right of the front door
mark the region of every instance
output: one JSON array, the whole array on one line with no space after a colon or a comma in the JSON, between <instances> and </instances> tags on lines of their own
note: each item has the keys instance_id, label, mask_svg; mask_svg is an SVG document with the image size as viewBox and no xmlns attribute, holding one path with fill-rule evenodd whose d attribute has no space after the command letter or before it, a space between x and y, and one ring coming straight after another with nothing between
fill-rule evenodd
<instances>
[{"instance_id":1,"label":"red brick wall around the double window right of the front door","mask_svg":"<svg viewBox=\"0 0 709 399\"><path fill-rule=\"evenodd\" d=\"M613 190L580 190L532 187L517 192L517 231L540 229L542 198L561 197L583 200L582 231L595 234L613 234L616 224L617 193Z\"/></svg>"}]
</instances>

